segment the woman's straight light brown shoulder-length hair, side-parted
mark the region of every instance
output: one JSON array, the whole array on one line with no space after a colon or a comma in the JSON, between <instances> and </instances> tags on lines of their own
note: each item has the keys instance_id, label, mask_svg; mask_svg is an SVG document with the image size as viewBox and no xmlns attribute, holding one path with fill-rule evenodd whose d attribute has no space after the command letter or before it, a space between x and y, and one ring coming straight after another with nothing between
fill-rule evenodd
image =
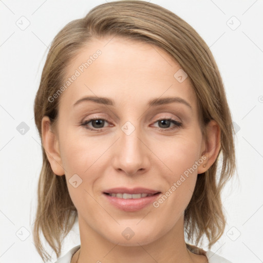
<instances>
[{"instance_id":1,"label":"woman's straight light brown shoulder-length hair, side-parted","mask_svg":"<svg viewBox=\"0 0 263 263\"><path fill-rule=\"evenodd\" d=\"M43 165L37 189L37 211L33 239L45 261L50 255L40 239L41 231L57 257L62 240L78 216L67 189L65 175L56 176L47 159L42 141L42 118L48 116L55 129L61 96L48 98L63 85L66 69L76 54L91 40L120 36L162 48L187 73L198 101L199 123L206 140L205 126L215 120L220 127L220 149L212 166L199 174L193 196L184 211L184 231L197 248L203 236L208 248L226 227L221 191L236 169L234 127L222 79L209 47L184 20L159 5L144 1L116 1L96 6L83 18L69 22L55 37L47 54L41 82L34 101L34 119L42 142ZM217 178L218 162L221 171Z\"/></svg>"}]
</instances>

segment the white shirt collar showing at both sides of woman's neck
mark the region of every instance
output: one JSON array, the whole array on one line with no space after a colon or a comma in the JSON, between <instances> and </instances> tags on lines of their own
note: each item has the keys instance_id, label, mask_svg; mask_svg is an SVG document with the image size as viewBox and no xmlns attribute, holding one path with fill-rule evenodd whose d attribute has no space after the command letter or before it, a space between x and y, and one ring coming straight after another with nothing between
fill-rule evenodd
<instances>
[{"instance_id":1,"label":"white shirt collar showing at both sides of woman's neck","mask_svg":"<svg viewBox=\"0 0 263 263\"><path fill-rule=\"evenodd\" d=\"M80 249L80 245L72 248L66 255L59 258L58 261L55 263L70 263L70 260L75 252L77 252ZM208 263L232 263L231 261L227 260L224 257L221 257L211 250L206 251L205 256L208 258Z\"/></svg>"}]
</instances>

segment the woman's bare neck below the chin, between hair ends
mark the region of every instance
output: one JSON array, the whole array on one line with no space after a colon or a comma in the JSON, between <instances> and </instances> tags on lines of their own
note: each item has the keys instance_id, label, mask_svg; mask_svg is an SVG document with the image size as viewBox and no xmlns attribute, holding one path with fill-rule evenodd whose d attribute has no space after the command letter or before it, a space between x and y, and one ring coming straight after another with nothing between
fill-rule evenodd
<instances>
[{"instance_id":1,"label":"woman's bare neck below the chin, between hair ends","mask_svg":"<svg viewBox=\"0 0 263 263\"><path fill-rule=\"evenodd\" d=\"M79 216L81 249L72 257L73 263L192 263L208 262L202 255L196 255L186 248L183 232L183 216L168 233L151 243L136 242L135 246L122 246L110 242L87 226Z\"/></svg>"}]
</instances>

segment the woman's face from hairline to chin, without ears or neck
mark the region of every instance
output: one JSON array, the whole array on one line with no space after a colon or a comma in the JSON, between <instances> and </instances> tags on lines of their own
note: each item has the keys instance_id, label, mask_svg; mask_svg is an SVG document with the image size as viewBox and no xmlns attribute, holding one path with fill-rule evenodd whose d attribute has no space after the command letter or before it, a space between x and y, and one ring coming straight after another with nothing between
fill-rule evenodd
<instances>
[{"instance_id":1,"label":"woman's face from hairline to chin, without ears or neck","mask_svg":"<svg viewBox=\"0 0 263 263\"><path fill-rule=\"evenodd\" d=\"M137 246L182 233L205 144L180 65L156 46L111 38L93 40L69 64L59 98L63 168L53 171L66 176L81 232ZM123 199L127 189L134 198L159 194Z\"/></svg>"}]
</instances>

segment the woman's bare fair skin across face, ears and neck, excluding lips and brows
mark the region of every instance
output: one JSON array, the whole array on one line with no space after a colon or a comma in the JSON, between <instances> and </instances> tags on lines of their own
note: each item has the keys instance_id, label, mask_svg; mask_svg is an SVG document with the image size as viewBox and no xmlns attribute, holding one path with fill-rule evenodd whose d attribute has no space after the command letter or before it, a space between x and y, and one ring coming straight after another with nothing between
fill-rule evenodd
<instances>
[{"instance_id":1,"label":"woman's bare fair skin across face, ears and neck, excluding lips and brows","mask_svg":"<svg viewBox=\"0 0 263 263\"><path fill-rule=\"evenodd\" d=\"M209 139L205 142L189 80L179 83L174 74L180 65L153 45L112 36L93 40L69 63L68 77L98 49L102 51L98 59L62 93L57 130L51 129L48 117L42 120L43 145L52 171L65 174L78 210L81 250L71 262L77 261L79 252L78 263L208 262L206 256L186 249L183 213L198 174L208 170L218 155L218 124L211 121L206 127ZM107 97L116 105L86 101L73 107L85 96ZM147 106L149 100L172 96L183 98L192 109L183 103ZM106 119L104 126L87 124L102 127L100 132L81 126L93 117ZM167 118L182 126L158 122ZM127 121L135 127L130 135L121 129ZM164 194L201 156L206 160L158 208L150 204L125 212L102 194L120 186ZM74 174L83 180L76 188L69 183ZM127 227L135 233L129 240L122 236Z\"/></svg>"}]
</instances>

